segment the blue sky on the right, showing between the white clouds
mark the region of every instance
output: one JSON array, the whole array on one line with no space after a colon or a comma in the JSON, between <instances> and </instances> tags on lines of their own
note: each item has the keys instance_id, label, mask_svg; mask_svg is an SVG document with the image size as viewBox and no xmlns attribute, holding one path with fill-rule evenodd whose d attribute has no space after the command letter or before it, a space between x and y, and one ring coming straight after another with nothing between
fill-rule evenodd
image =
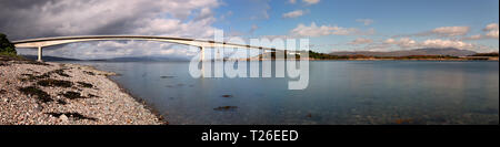
<instances>
[{"instance_id":1,"label":"blue sky on the right, showing between the white clouds","mask_svg":"<svg viewBox=\"0 0 500 147\"><path fill-rule=\"evenodd\" d=\"M381 42L388 39L400 38L408 38L416 41L416 44L427 40L441 40L486 48L469 50L498 51L498 38L463 40L472 35L484 35L488 32L483 29L488 24L498 25L498 0L320 0L313 4L302 0L297 0L296 3L290 3L289 0L227 0L216 9L219 20L213 25L223 29L226 34L239 32L237 34L246 38L290 35L290 31L301 23L306 27L316 23L317 27L374 30L372 34L303 36L310 38L311 44L316 45L312 50L320 52L377 50L370 45L382 45ZM303 14L283 18L284 13L296 10L302 10ZM366 25L360 19L371 20L372 23ZM253 32L250 31L252 25L258 27ZM461 35L414 35L443 27L467 27L469 30ZM372 42L349 44L359 38ZM403 49L392 46L386 50Z\"/></svg>"}]
</instances>

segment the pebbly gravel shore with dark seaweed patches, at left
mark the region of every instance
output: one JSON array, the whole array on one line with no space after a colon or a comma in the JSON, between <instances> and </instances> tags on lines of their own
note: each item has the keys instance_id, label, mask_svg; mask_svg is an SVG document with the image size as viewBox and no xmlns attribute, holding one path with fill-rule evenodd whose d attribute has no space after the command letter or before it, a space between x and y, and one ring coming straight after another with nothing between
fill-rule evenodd
<instances>
[{"instance_id":1,"label":"pebbly gravel shore with dark seaweed patches, at left","mask_svg":"<svg viewBox=\"0 0 500 147\"><path fill-rule=\"evenodd\" d=\"M0 56L0 125L161 125L91 66Z\"/></svg>"}]
</instances>

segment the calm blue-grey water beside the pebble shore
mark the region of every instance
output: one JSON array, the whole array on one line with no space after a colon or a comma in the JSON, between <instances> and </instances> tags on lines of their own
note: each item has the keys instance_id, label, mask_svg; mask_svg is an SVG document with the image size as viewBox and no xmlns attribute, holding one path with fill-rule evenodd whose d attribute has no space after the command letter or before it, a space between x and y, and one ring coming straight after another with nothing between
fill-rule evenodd
<instances>
[{"instance_id":1,"label":"calm blue-grey water beside the pebble shore","mask_svg":"<svg viewBox=\"0 0 500 147\"><path fill-rule=\"evenodd\" d=\"M303 91L193 78L189 62L73 63L121 74L170 124L499 124L499 62L311 61Z\"/></svg>"}]
</instances>

